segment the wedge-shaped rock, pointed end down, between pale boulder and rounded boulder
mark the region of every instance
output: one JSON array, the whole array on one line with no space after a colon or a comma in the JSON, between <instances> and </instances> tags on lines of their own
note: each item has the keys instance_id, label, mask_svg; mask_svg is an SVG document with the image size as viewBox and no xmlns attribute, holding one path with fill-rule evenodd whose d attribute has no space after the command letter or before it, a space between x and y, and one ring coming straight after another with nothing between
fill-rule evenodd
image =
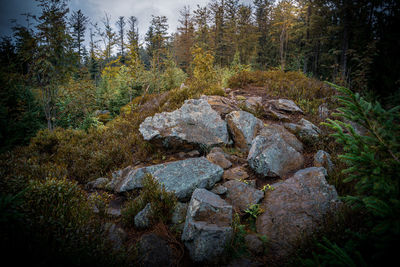
<instances>
[{"instance_id":1,"label":"wedge-shaped rock, pointed end down, between pale boulder and rounded boulder","mask_svg":"<svg viewBox=\"0 0 400 267\"><path fill-rule=\"evenodd\" d=\"M233 111L226 116L235 147L247 152L263 122L246 111Z\"/></svg>"}]
</instances>

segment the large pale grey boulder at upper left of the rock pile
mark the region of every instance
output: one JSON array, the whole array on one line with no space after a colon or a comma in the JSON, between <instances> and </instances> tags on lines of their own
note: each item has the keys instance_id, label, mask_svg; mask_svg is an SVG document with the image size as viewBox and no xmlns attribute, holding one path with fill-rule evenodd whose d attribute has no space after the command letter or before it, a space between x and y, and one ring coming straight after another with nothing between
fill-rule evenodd
<instances>
[{"instance_id":1,"label":"large pale grey boulder at upper left of the rock pile","mask_svg":"<svg viewBox=\"0 0 400 267\"><path fill-rule=\"evenodd\" d=\"M140 124L144 140L170 150L229 144L226 122L204 99L189 99L180 109L157 113Z\"/></svg>"}]
</instances>

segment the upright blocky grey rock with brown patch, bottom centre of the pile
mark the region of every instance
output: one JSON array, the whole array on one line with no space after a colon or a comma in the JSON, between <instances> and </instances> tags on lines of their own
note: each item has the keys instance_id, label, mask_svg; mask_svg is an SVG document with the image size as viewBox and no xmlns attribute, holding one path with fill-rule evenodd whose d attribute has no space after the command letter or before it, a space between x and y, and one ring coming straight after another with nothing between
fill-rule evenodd
<instances>
[{"instance_id":1,"label":"upright blocky grey rock with brown patch, bottom centre of the pile","mask_svg":"<svg viewBox=\"0 0 400 267\"><path fill-rule=\"evenodd\" d=\"M221 256L233 230L232 206L214 193L196 189L189 203L182 241L195 262Z\"/></svg>"}]
</instances>

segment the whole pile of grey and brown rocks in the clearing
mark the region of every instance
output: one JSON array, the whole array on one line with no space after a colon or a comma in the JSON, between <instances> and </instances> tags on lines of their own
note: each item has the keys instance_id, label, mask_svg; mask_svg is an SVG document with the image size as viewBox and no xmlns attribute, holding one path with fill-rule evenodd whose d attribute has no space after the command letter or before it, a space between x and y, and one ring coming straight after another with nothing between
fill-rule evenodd
<instances>
[{"instance_id":1,"label":"whole pile of grey and brown rocks in the clearing","mask_svg":"<svg viewBox=\"0 0 400 267\"><path fill-rule=\"evenodd\" d=\"M262 99L247 98L245 104L248 109L260 108ZM268 101L264 110L279 118L303 113L285 99ZM203 96L186 100L173 112L146 118L139 130L144 140L170 151L211 151L203 156L189 152L196 157L179 161L127 167L115 172L108 184L96 180L90 186L123 193L142 188L143 178L151 174L177 196L172 221L182 225L182 241L196 262L213 261L223 254L233 235L232 214L243 214L252 204L261 203L266 211L257 219L257 232L268 237L271 251L279 257L287 255L298 238L318 228L337 205L336 190L326 182L325 168L333 168L329 154L318 151L314 158L318 168L302 169L305 160L300 140L320 134L320 129L305 119L297 124L264 124L230 98ZM218 147L221 145L233 145L247 154L247 159L225 153ZM255 180L247 180L248 168L259 177L289 178L264 192L256 188ZM136 215L136 227L147 227L150 213L149 203ZM254 254L262 253L257 235L245 239Z\"/></svg>"}]
</instances>

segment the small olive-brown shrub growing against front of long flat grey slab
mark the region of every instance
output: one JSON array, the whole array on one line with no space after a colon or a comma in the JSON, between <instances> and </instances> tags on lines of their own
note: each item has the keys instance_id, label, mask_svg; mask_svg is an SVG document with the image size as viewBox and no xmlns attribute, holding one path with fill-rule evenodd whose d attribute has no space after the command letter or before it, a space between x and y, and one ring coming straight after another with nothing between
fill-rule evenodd
<instances>
[{"instance_id":1,"label":"small olive-brown shrub growing against front of long flat grey slab","mask_svg":"<svg viewBox=\"0 0 400 267\"><path fill-rule=\"evenodd\" d=\"M134 217L150 203L152 223L167 223L171 219L177 203L173 192L168 192L164 185L159 184L150 174L143 178L143 188L140 195L128 201L122 211L122 221L126 226L134 226Z\"/></svg>"}]
</instances>

